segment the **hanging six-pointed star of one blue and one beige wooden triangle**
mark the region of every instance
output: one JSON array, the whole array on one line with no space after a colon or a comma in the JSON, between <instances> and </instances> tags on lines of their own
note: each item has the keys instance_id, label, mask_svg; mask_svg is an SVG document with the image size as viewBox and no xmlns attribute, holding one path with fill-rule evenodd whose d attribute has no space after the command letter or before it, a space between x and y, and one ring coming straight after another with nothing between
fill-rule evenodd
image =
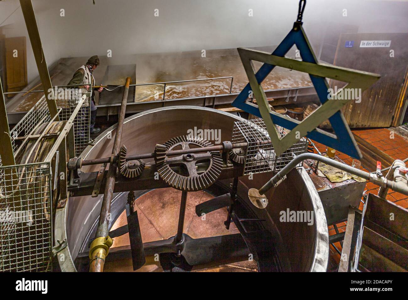
<instances>
[{"instance_id":1,"label":"hanging six-pointed star of one blue and one beige wooden triangle","mask_svg":"<svg viewBox=\"0 0 408 300\"><path fill-rule=\"evenodd\" d=\"M284 57L294 44L299 49L302 60ZM245 48L238 48L238 53L244 65L249 83L235 98L232 105L264 120L277 156L299 141L300 137L307 136L349 156L361 159L357 143L340 111L341 107L352 99L337 97L337 93L343 93L341 89L334 95L333 92L330 93L325 78L347 82L348 84L345 88L360 89L362 93L380 78L378 74L318 63L299 18L295 22L293 29L273 53ZM253 60L264 62L256 73L252 64ZM302 122L276 113L268 105L268 100L261 83L275 66L306 72L310 75L310 80L322 105ZM248 93L251 90L258 105L246 102ZM336 135L317 128L319 124L327 119L329 119ZM290 132L281 138L275 125L289 129Z\"/></svg>"}]
</instances>

